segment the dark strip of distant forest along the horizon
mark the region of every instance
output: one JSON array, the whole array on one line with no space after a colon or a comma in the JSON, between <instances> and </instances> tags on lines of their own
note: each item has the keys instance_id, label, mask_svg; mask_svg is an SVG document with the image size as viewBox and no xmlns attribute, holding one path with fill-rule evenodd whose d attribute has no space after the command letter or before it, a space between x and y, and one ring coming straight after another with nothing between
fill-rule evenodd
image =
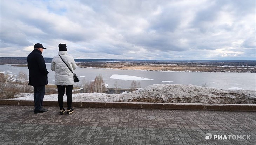
<instances>
[{"instance_id":1,"label":"dark strip of distant forest along the horizon","mask_svg":"<svg viewBox=\"0 0 256 145\"><path fill-rule=\"evenodd\" d=\"M46 63L52 62L53 58L45 58ZM145 63L164 63L164 64L194 64L194 65L207 65L207 66L256 66L256 60L193 60L193 61L175 61L175 60L129 60L129 59L75 59L75 62L107 62L107 61L129 61L129 62L145 62ZM1 64L26 64L27 57L0 57Z\"/></svg>"}]
</instances>

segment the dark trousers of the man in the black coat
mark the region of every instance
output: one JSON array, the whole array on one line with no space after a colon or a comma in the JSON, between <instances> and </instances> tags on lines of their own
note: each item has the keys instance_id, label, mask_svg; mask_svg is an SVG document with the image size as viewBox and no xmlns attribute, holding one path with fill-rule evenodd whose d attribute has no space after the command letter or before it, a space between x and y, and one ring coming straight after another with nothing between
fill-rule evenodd
<instances>
[{"instance_id":1,"label":"dark trousers of the man in the black coat","mask_svg":"<svg viewBox=\"0 0 256 145\"><path fill-rule=\"evenodd\" d=\"M34 87L34 104L35 110L39 111L43 107L43 98L45 97L45 85L33 86Z\"/></svg>"}]
</instances>

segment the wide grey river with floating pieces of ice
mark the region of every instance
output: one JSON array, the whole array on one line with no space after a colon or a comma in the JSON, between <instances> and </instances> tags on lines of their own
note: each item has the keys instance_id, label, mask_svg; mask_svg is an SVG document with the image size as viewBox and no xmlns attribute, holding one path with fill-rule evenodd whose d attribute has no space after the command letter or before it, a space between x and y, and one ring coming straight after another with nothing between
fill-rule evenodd
<instances>
[{"instance_id":1,"label":"wide grey river with floating pieces of ice","mask_svg":"<svg viewBox=\"0 0 256 145\"><path fill-rule=\"evenodd\" d=\"M46 63L49 84L54 84L54 72L50 70L50 63ZM0 65L0 71L10 75L17 75L20 71L28 75L27 67L15 67L10 64ZM221 73L221 72L163 72L143 70L116 70L77 68L75 73L79 76L80 82L75 85L82 85L84 81L91 81L101 74L109 88L129 88L132 80L140 82L141 88L152 84L193 84L219 89L238 87L244 90L256 90L256 73ZM15 79L15 77L13 77ZM117 85L115 85L117 84Z\"/></svg>"}]
</instances>

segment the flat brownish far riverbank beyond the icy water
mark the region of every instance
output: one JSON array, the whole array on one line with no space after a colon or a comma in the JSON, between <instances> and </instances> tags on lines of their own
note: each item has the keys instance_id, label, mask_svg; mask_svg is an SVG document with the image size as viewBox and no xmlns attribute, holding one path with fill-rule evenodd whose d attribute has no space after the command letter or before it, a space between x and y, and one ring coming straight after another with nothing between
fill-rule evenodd
<instances>
[{"instance_id":1,"label":"flat brownish far riverbank beyond the icy water","mask_svg":"<svg viewBox=\"0 0 256 145\"><path fill-rule=\"evenodd\" d=\"M148 70L148 71L184 71L184 72L236 72L256 73L255 66L216 66L213 64L201 65L197 63L145 63L145 62L80 62L83 68L105 68L121 70Z\"/></svg>"}]
</instances>

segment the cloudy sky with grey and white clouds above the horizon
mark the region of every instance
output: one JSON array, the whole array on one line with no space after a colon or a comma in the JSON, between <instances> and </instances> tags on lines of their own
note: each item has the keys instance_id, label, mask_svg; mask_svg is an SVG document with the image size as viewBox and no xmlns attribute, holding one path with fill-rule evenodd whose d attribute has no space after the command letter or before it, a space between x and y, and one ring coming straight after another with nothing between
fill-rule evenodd
<instances>
[{"instance_id":1,"label":"cloudy sky with grey and white clouds above the horizon","mask_svg":"<svg viewBox=\"0 0 256 145\"><path fill-rule=\"evenodd\" d=\"M255 0L1 0L0 56L256 60Z\"/></svg>"}]
</instances>

